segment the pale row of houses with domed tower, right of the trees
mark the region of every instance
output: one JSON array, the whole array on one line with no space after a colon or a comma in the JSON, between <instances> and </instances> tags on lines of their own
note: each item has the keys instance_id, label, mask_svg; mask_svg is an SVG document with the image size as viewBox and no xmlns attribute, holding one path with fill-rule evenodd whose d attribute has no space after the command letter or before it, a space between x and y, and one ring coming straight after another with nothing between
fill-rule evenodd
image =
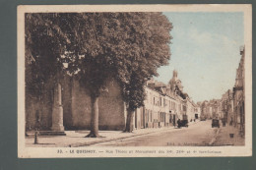
<instances>
[{"instance_id":1,"label":"pale row of houses with domed tower, right of the trees","mask_svg":"<svg viewBox=\"0 0 256 170\"><path fill-rule=\"evenodd\" d=\"M146 93L145 106L135 112L135 129L175 126L178 119L192 121L200 117L199 106L183 92L175 70L167 85L149 81Z\"/></svg>"}]
</instances>

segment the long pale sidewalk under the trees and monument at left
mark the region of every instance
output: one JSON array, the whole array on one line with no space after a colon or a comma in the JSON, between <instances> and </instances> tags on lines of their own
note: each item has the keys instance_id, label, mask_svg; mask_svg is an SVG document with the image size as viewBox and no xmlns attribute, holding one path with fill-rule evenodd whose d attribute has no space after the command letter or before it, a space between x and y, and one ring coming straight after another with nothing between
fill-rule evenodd
<instances>
[{"instance_id":1,"label":"long pale sidewalk under the trees and monument at left","mask_svg":"<svg viewBox=\"0 0 256 170\"><path fill-rule=\"evenodd\" d=\"M34 138L26 138L26 146L29 147L77 147L86 146L98 142L110 142L122 140L141 135L174 130L174 127L150 128L134 130L133 133L123 133L122 131L99 131L100 138L85 138L90 131L65 131L66 136L38 136L38 144L33 144ZM32 134L32 132L29 132Z\"/></svg>"}]
</instances>

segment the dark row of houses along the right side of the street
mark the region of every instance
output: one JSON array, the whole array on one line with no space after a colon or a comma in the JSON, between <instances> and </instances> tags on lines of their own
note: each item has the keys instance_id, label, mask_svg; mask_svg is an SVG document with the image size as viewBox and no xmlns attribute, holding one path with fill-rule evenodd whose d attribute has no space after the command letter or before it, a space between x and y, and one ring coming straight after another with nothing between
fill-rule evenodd
<instances>
[{"instance_id":1,"label":"dark row of houses along the right side of the street","mask_svg":"<svg viewBox=\"0 0 256 170\"><path fill-rule=\"evenodd\" d=\"M244 57L245 47L240 47L241 59L236 69L235 83L232 89L224 92L221 99L213 99L198 103L201 106L202 116L206 118L221 119L230 126L239 129L241 136L245 133L244 108Z\"/></svg>"}]
</instances>

